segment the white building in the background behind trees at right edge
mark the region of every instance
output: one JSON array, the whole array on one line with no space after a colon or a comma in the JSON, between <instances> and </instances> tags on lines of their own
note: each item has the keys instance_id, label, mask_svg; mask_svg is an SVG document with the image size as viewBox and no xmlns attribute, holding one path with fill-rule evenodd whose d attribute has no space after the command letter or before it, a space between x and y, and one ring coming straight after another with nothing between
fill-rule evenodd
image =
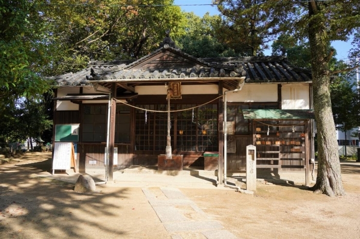
<instances>
[{"instance_id":1,"label":"white building in the background behind trees at right edge","mask_svg":"<svg viewBox=\"0 0 360 239\"><path fill-rule=\"evenodd\" d=\"M359 92L359 69L357 70L356 74L355 74L355 77L356 77L356 85L354 86L354 89L356 88ZM337 137L337 140L338 140L338 143L339 143L339 153L340 154L345 154L344 153L344 145L346 146L355 146L355 147L360 147L360 141L359 141L359 137L351 137L352 133L353 132L359 132L359 128L354 128L350 131L347 131L347 132L342 132L340 130L337 130L336 131L336 137ZM346 133L346 137L345 137L345 133ZM346 138L346 139L345 139ZM346 143L346 144L345 144ZM348 155L351 155L353 154L351 149L349 149L349 147L347 147L347 154Z\"/></svg>"}]
</instances>

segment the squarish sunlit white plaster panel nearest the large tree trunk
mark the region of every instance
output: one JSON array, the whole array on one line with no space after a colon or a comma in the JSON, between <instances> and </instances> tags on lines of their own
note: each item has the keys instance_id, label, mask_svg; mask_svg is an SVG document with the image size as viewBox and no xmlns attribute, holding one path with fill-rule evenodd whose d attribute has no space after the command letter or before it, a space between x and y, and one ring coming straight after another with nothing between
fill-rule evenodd
<instances>
[{"instance_id":1,"label":"squarish sunlit white plaster panel nearest the large tree trunk","mask_svg":"<svg viewBox=\"0 0 360 239\"><path fill-rule=\"evenodd\" d=\"M282 109L310 109L308 84L284 84L281 96Z\"/></svg>"}]
</instances>

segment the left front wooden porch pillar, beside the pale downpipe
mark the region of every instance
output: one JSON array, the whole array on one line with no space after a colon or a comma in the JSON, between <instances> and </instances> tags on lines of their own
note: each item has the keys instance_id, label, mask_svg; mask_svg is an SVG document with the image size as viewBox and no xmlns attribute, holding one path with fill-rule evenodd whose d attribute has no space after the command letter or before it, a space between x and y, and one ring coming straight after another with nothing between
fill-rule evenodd
<instances>
[{"instance_id":1,"label":"left front wooden porch pillar, beside the pale downpipe","mask_svg":"<svg viewBox=\"0 0 360 239\"><path fill-rule=\"evenodd\" d=\"M116 116L116 85L112 84L112 98L110 106L110 134L109 134L109 161L108 161L108 181L113 181L114 173L114 145L115 145L115 116Z\"/></svg>"}]
</instances>

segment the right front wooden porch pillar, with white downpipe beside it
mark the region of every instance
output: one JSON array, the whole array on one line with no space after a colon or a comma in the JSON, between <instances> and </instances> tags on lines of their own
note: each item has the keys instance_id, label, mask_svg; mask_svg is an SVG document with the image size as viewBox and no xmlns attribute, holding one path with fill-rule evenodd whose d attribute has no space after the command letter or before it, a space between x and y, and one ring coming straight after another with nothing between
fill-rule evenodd
<instances>
[{"instance_id":1,"label":"right front wooden porch pillar, with white downpipe beside it","mask_svg":"<svg viewBox=\"0 0 360 239\"><path fill-rule=\"evenodd\" d=\"M219 96L222 95L222 81L219 81ZM217 167L217 184L223 184L223 171L224 171L224 101L223 98L219 98L217 105L217 128L218 128L218 141L219 141L219 158Z\"/></svg>"}]
</instances>

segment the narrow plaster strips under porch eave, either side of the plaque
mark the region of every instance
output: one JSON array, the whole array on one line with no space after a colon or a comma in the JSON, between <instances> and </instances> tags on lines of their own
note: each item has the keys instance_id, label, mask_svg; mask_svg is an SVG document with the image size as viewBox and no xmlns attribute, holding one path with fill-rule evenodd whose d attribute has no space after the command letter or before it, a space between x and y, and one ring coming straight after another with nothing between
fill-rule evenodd
<instances>
[{"instance_id":1,"label":"narrow plaster strips under porch eave, either side of the plaque","mask_svg":"<svg viewBox=\"0 0 360 239\"><path fill-rule=\"evenodd\" d=\"M135 86L135 92L139 95L166 95L167 87L164 85ZM217 85L181 85L182 95L217 94Z\"/></svg>"}]
</instances>

